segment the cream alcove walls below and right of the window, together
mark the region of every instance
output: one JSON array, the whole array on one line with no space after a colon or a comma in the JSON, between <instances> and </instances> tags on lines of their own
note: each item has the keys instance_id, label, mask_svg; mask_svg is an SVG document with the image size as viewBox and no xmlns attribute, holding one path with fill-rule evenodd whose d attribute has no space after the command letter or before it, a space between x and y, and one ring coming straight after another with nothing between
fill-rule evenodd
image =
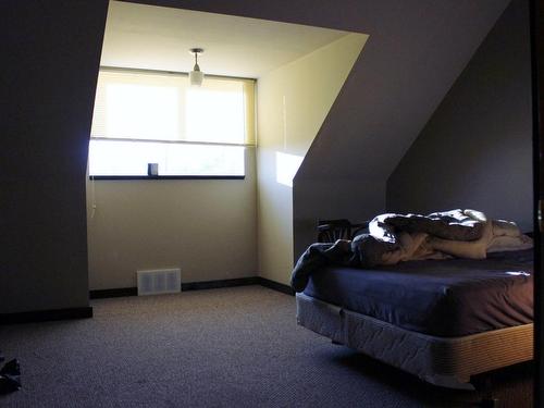
<instances>
[{"instance_id":1,"label":"cream alcove walls below and right of the window, together","mask_svg":"<svg viewBox=\"0 0 544 408\"><path fill-rule=\"evenodd\" d=\"M349 34L259 78L246 180L88 182L90 289L133 287L137 270L160 268L181 268L183 282L288 283L293 196L276 153L306 154L366 39Z\"/></svg>"}]
</instances>

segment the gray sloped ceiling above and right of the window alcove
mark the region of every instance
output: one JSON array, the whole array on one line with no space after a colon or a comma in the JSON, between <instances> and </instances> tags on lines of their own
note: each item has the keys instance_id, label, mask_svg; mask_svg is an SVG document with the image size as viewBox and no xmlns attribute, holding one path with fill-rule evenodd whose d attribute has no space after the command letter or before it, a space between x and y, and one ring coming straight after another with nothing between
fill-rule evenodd
<instances>
[{"instance_id":1,"label":"gray sloped ceiling above and right of the window alcove","mask_svg":"<svg viewBox=\"0 0 544 408\"><path fill-rule=\"evenodd\" d=\"M386 182L508 0L148 0L370 35L296 178Z\"/></svg>"}]
</instances>

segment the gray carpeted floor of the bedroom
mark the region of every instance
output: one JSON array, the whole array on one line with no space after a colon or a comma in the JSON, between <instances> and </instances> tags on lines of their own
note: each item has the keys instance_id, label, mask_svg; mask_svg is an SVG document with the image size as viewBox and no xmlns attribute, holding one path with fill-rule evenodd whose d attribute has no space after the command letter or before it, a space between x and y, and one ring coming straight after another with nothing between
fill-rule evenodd
<instances>
[{"instance_id":1,"label":"gray carpeted floor of the bedroom","mask_svg":"<svg viewBox=\"0 0 544 408\"><path fill-rule=\"evenodd\" d=\"M0 327L23 388L0 407L470 407L478 392L416 378L296 325L261 286L92 301L95 318ZM530 364L494 373L532 405Z\"/></svg>"}]
</instances>

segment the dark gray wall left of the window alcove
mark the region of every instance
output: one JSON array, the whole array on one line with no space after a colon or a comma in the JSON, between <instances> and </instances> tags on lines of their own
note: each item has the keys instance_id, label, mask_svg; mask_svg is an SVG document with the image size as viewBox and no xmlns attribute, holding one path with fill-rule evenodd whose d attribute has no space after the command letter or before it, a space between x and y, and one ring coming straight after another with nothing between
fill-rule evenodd
<instances>
[{"instance_id":1,"label":"dark gray wall left of the window alcove","mask_svg":"<svg viewBox=\"0 0 544 408\"><path fill-rule=\"evenodd\" d=\"M107 4L1 2L0 313L88 306L85 171Z\"/></svg>"}]
</instances>

